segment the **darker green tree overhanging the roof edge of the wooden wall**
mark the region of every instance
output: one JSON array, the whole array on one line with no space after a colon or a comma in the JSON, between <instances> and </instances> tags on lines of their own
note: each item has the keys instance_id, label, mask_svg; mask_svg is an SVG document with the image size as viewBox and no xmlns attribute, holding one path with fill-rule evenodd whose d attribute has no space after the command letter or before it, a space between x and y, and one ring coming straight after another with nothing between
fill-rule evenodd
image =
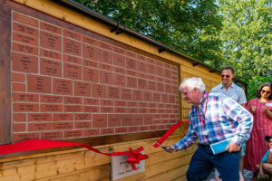
<instances>
[{"instance_id":1,"label":"darker green tree overhanging the roof edge of the wooden wall","mask_svg":"<svg viewBox=\"0 0 272 181\"><path fill-rule=\"evenodd\" d=\"M220 64L216 0L77 0L126 27L200 61Z\"/></svg>"}]
</instances>

